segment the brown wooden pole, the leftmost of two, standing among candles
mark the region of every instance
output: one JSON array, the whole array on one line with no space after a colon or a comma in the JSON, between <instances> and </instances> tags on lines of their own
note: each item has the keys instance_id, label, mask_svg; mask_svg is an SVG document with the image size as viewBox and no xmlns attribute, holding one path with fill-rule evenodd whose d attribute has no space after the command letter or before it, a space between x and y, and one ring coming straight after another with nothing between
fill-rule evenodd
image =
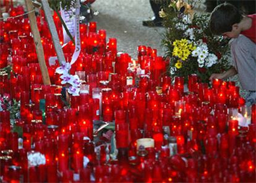
<instances>
[{"instance_id":1,"label":"brown wooden pole, the leftmost of two, standing among candles","mask_svg":"<svg viewBox=\"0 0 256 183\"><path fill-rule=\"evenodd\" d=\"M33 11L33 9L35 9L35 7L32 4L31 0L25 0L25 4L27 6L27 11ZM30 22L30 27L33 33L33 40L35 42L35 46L36 46L36 54L37 54L37 58L38 58L38 62L40 65L40 69L41 69L41 74L43 77L43 83L45 85L51 85L51 81L49 79L49 74L48 74L48 69L46 67L45 64L45 54L43 52L43 45L41 43L41 36L36 24L36 16L35 16L35 12L30 12L28 14L28 19Z\"/></svg>"}]
</instances>

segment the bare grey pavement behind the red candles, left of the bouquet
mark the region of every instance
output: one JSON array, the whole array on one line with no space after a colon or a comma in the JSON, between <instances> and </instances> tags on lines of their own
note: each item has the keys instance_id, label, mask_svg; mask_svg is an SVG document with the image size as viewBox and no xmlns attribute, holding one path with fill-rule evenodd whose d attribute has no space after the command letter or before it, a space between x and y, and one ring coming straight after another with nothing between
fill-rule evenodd
<instances>
[{"instance_id":1,"label":"bare grey pavement behind the red candles, left of the bouquet","mask_svg":"<svg viewBox=\"0 0 256 183\"><path fill-rule=\"evenodd\" d=\"M145 45L157 49L158 55L164 55L161 40L164 28L143 27L142 20L153 16L148 0L96 0L92 4L99 14L92 21L98 29L105 29L107 38L117 38L117 50L137 58L137 46Z\"/></svg>"}]
</instances>

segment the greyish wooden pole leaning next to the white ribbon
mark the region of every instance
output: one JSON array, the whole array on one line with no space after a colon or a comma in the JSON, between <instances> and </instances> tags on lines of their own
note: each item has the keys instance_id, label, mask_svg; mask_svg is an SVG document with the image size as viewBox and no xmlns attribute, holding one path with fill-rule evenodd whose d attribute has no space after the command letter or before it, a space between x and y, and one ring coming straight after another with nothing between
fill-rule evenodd
<instances>
[{"instance_id":1,"label":"greyish wooden pole leaning next to the white ribbon","mask_svg":"<svg viewBox=\"0 0 256 183\"><path fill-rule=\"evenodd\" d=\"M51 9L49 7L48 0L41 0L43 10L45 11L46 22L48 23L49 31L51 32L51 39L53 40L53 45L58 57L59 64L66 63L64 53L59 43L59 36L53 21L53 16L51 15Z\"/></svg>"}]
</instances>

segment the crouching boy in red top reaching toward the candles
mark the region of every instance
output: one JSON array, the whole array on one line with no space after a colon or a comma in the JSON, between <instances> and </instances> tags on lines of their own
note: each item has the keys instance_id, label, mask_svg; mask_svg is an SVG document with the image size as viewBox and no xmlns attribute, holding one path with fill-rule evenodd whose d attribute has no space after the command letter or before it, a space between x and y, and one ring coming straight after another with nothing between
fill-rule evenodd
<instances>
[{"instance_id":1,"label":"crouching boy in red top reaching toward the candles","mask_svg":"<svg viewBox=\"0 0 256 183\"><path fill-rule=\"evenodd\" d=\"M242 16L232 4L220 4L211 12L211 32L233 38L231 56L233 67L221 74L212 74L212 79L228 79L238 74L242 88L249 91L246 104L256 103L256 14Z\"/></svg>"}]
</instances>

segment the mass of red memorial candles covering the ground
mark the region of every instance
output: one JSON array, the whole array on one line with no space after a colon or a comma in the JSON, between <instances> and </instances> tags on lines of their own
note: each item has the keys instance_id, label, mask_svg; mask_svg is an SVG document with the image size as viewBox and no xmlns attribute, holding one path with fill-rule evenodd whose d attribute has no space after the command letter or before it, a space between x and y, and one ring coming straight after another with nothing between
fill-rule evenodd
<instances>
[{"instance_id":1,"label":"mass of red memorial candles covering the ground","mask_svg":"<svg viewBox=\"0 0 256 183\"><path fill-rule=\"evenodd\" d=\"M23 12L14 7L10 15ZM62 40L61 22L53 17ZM116 38L106 41L106 30L90 22L80 24L82 51L70 70L82 80L80 95L67 95L67 108L58 62L49 66L56 54L43 12L37 20L51 85L43 85L28 18L0 22L0 68L12 65L13 71L0 73L0 95L20 101L14 126L22 129L19 137L10 112L0 112L4 181L255 182L256 106L245 106L234 82L215 79L209 87L190 75L184 92L184 78L168 76L168 61L156 49L138 46L131 59L118 53ZM70 61L72 42L63 51ZM93 141L99 120L114 122L116 157L112 143ZM32 151L46 163L29 166Z\"/></svg>"}]
</instances>

